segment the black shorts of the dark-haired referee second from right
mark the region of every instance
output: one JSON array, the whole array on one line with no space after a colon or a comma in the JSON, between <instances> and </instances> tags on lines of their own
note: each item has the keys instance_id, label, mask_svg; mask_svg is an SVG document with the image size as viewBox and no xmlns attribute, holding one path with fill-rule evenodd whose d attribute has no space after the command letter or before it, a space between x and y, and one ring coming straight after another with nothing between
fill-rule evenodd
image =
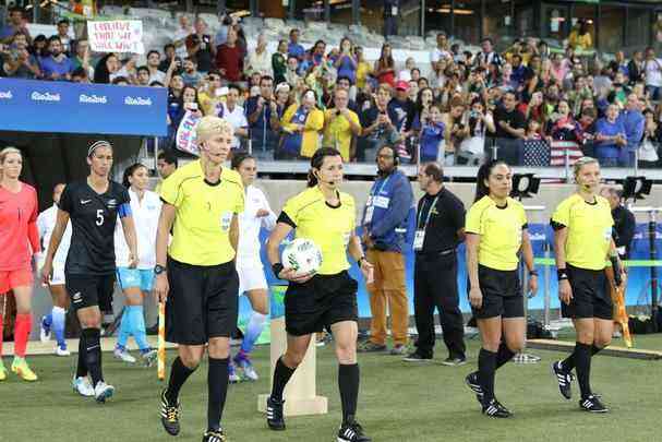
<instances>
[{"instance_id":1,"label":"black shorts of the dark-haired referee second from right","mask_svg":"<svg viewBox=\"0 0 662 442\"><path fill-rule=\"evenodd\" d=\"M498 271L478 266L478 282L483 294L480 309L471 307L477 319L523 318L525 303L517 271ZM467 289L470 289L467 284Z\"/></svg>"}]
</instances>

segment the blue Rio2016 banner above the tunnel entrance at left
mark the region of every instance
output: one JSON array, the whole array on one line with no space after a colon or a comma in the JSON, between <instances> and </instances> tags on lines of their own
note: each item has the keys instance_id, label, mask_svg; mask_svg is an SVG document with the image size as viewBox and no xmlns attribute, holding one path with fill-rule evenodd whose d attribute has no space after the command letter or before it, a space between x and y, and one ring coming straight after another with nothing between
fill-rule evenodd
<instances>
[{"instance_id":1,"label":"blue Rio2016 banner above the tunnel entrance at left","mask_svg":"<svg viewBox=\"0 0 662 442\"><path fill-rule=\"evenodd\" d=\"M166 135L165 87L0 79L0 130Z\"/></svg>"}]
</instances>

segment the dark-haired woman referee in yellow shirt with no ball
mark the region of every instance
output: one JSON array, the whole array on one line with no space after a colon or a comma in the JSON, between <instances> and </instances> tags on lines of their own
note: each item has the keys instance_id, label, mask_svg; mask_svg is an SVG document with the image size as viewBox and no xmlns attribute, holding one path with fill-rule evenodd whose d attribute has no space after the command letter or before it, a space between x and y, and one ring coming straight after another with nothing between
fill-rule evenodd
<instances>
[{"instance_id":1,"label":"dark-haired woman referee in yellow shirt with no ball","mask_svg":"<svg viewBox=\"0 0 662 442\"><path fill-rule=\"evenodd\" d=\"M465 379L477 394L485 416L510 417L494 396L496 370L513 359L525 343L523 297L517 267L519 252L530 278L528 291L538 290L533 250L523 206L508 195L513 172L503 160L478 170L476 202L467 213L467 272L469 301L478 322L482 347L478 371Z\"/></svg>"}]
</instances>

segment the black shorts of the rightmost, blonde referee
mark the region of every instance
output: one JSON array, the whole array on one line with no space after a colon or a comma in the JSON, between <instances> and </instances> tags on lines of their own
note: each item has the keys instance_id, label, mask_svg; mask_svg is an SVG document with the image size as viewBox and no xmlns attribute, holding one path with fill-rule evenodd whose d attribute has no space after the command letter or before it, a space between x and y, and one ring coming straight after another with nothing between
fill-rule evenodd
<instances>
[{"instance_id":1,"label":"black shorts of the rightmost, blonde referee","mask_svg":"<svg viewBox=\"0 0 662 442\"><path fill-rule=\"evenodd\" d=\"M573 289L569 306L561 302L563 318L587 319L614 318L612 297L609 292L604 270L594 271L567 264L568 282Z\"/></svg>"}]
</instances>

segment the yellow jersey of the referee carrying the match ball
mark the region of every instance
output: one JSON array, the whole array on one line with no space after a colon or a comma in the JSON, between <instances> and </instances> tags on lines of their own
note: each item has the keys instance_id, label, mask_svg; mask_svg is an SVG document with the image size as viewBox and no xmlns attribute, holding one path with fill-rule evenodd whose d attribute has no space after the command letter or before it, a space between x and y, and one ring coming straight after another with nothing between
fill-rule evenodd
<instances>
[{"instance_id":1,"label":"yellow jersey of the referee carrying the match ball","mask_svg":"<svg viewBox=\"0 0 662 442\"><path fill-rule=\"evenodd\" d=\"M339 192L340 205L326 203L316 186L309 188L285 203L282 212L296 226L296 238L306 238L322 251L321 275L335 275L349 268L347 244L354 230L354 199Z\"/></svg>"}]
</instances>

